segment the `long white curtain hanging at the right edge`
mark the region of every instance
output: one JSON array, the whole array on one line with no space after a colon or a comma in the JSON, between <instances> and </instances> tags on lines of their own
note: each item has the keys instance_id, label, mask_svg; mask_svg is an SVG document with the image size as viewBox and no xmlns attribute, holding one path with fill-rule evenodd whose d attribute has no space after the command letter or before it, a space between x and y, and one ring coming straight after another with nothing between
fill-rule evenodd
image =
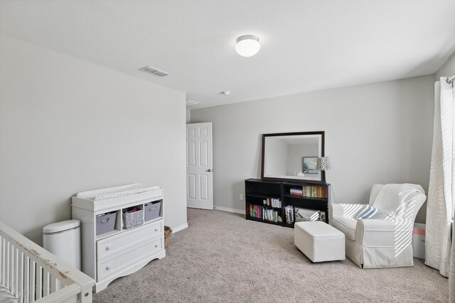
<instances>
[{"instance_id":1,"label":"long white curtain hanging at the right edge","mask_svg":"<svg viewBox=\"0 0 455 303\"><path fill-rule=\"evenodd\" d=\"M452 84L446 80L446 77L441 77L440 81L434 84L434 131L427 200L425 264L437 268L444 277L449 277L451 221L455 202L453 159L455 98Z\"/></svg>"}]
</instances>

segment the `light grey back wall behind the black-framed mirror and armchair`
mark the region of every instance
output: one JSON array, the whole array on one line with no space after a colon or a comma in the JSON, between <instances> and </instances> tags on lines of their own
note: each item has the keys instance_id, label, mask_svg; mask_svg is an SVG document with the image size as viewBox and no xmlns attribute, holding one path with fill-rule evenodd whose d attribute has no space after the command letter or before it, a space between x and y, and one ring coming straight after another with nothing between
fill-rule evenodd
<instances>
[{"instance_id":1,"label":"light grey back wall behind the black-framed mirror and armchair","mask_svg":"<svg viewBox=\"0 0 455 303\"><path fill-rule=\"evenodd\" d=\"M260 177L262 133L325 131L337 202L368 202L375 183L427 190L433 95L431 75L192 110L192 123L213 122L215 206L245 209L239 194Z\"/></svg>"}]
</instances>

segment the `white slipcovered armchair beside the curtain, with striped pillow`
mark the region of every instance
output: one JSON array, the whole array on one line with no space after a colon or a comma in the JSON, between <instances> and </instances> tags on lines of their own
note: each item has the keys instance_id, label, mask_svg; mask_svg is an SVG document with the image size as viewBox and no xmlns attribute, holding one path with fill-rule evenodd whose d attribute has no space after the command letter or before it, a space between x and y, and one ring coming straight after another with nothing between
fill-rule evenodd
<instances>
[{"instance_id":1,"label":"white slipcovered armchair beside the curtain, with striped pillow","mask_svg":"<svg viewBox=\"0 0 455 303\"><path fill-rule=\"evenodd\" d=\"M412 266L412 228L425 199L420 185L375 184L369 204L389 218L355 219L365 204L329 204L329 223L345 234L346 255L360 268Z\"/></svg>"}]
</instances>

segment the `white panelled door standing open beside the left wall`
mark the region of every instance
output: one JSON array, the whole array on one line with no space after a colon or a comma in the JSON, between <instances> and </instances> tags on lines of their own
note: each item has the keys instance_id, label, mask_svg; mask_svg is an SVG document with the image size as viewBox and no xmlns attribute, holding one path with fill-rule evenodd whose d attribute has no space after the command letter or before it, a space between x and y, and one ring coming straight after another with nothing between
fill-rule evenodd
<instances>
[{"instance_id":1,"label":"white panelled door standing open beside the left wall","mask_svg":"<svg viewBox=\"0 0 455 303\"><path fill-rule=\"evenodd\" d=\"M212 123L186 124L186 206L213 209Z\"/></svg>"}]
</instances>

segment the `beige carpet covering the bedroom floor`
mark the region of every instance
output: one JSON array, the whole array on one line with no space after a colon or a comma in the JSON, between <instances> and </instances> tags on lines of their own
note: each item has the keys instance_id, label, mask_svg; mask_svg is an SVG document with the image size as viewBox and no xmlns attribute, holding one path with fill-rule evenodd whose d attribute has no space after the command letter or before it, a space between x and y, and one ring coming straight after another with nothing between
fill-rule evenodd
<instances>
[{"instance_id":1,"label":"beige carpet covering the bedroom floor","mask_svg":"<svg viewBox=\"0 0 455 303\"><path fill-rule=\"evenodd\" d=\"M294 229L223 211L188 209L189 228L166 258L112 282L93 302L447 302L448 280L412 268L361 270L350 260L311 263Z\"/></svg>"}]
</instances>

